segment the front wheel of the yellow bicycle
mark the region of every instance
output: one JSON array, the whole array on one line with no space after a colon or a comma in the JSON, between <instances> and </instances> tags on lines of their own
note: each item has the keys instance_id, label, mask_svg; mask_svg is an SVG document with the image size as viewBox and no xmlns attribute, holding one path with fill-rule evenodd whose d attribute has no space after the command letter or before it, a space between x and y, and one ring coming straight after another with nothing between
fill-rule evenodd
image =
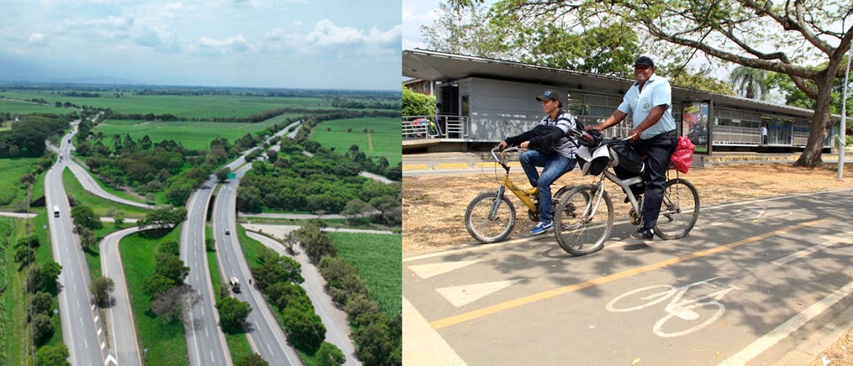
<instances>
[{"instance_id":1,"label":"front wheel of the yellow bicycle","mask_svg":"<svg viewBox=\"0 0 853 366\"><path fill-rule=\"evenodd\" d=\"M465 228L481 243L499 242L513 231L515 208L507 197L501 197L495 215L490 217L496 199L496 192L482 193L474 197L465 210Z\"/></svg>"}]
</instances>

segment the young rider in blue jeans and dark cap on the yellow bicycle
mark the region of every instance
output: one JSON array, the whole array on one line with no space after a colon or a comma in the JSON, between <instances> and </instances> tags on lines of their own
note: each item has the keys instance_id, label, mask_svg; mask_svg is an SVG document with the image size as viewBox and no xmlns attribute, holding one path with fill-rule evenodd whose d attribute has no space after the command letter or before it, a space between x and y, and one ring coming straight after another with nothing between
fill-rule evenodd
<instances>
[{"instance_id":1,"label":"young rider in blue jeans and dark cap on the yellow bicycle","mask_svg":"<svg viewBox=\"0 0 853 366\"><path fill-rule=\"evenodd\" d=\"M536 128L508 137L498 143L501 150L508 145L518 145L523 149L519 156L521 168L527 174L531 186L537 187L539 197L539 223L531 230L533 234L541 234L554 228L554 213L551 206L551 185L566 172L575 167L575 152L577 145L566 135L569 129L577 129L577 117L563 111L563 98L554 90L547 90L537 96L542 102L545 117ZM537 167L543 167L539 174Z\"/></svg>"}]
</instances>

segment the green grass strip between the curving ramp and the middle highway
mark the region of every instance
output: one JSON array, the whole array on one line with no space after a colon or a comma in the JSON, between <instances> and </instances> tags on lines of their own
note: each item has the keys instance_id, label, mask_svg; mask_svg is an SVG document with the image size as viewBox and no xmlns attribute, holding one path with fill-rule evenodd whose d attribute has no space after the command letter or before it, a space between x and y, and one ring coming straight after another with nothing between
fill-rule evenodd
<instances>
[{"instance_id":1,"label":"green grass strip between the curving ramp and the middle highway","mask_svg":"<svg viewBox=\"0 0 853 366\"><path fill-rule=\"evenodd\" d=\"M119 244L121 260L125 266L127 289L136 319L136 333L141 348L147 348L146 364L188 365L187 341L183 323L179 320L164 323L150 312L150 298L142 293L145 280L154 274L154 257L160 243L178 240L181 227L177 226L163 237L144 237L140 233L125 237Z\"/></svg>"}]
</instances>

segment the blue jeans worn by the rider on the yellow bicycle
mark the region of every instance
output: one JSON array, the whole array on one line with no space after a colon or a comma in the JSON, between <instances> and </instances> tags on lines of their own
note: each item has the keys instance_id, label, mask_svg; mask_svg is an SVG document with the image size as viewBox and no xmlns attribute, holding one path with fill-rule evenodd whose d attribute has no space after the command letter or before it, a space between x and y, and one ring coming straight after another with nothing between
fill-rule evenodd
<instances>
[{"instance_id":1,"label":"blue jeans worn by the rider on the yellow bicycle","mask_svg":"<svg viewBox=\"0 0 853 366\"><path fill-rule=\"evenodd\" d=\"M575 168L575 159L564 157L560 153L543 155L536 150L528 150L520 155L521 168L525 169L527 180L531 186L537 187L539 192L539 214L543 222L554 220L554 212L551 209L551 185L554 180ZM537 167L544 167L542 174Z\"/></svg>"}]
</instances>

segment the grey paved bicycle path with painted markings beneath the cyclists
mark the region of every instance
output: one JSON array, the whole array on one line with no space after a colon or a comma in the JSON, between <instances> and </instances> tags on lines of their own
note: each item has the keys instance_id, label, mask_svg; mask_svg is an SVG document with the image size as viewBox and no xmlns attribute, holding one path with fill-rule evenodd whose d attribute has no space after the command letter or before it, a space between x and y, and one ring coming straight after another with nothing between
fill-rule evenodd
<instances>
[{"instance_id":1,"label":"grey paved bicycle path with painted markings beneath the cyclists","mask_svg":"<svg viewBox=\"0 0 853 366\"><path fill-rule=\"evenodd\" d=\"M851 198L718 206L682 240L612 240L587 257L537 237L403 258L404 363L717 364L744 349L734 364L773 363L853 305Z\"/></svg>"}]
</instances>

